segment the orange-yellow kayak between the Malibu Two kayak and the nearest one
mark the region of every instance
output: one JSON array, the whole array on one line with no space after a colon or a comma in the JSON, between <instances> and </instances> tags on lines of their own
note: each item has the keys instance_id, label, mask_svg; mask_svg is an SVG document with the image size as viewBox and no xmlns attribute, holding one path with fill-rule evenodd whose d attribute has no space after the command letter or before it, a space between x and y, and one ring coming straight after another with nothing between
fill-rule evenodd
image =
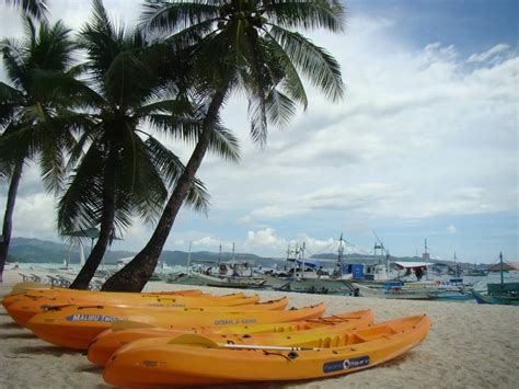
<instances>
[{"instance_id":1,"label":"orange-yellow kayak between the Malibu Two kayak and the nearest one","mask_svg":"<svg viewBox=\"0 0 519 389\"><path fill-rule=\"evenodd\" d=\"M89 346L89 361L105 365L109 356L122 346L143 339L160 337L169 342L172 337L185 333L204 334L215 342L237 344L270 344L270 345L298 345L313 346L313 341L328 334L334 336L337 333L364 328L373 321L371 310L356 312L345 312L332 317L310 319L299 322L274 323L274 324L251 324L241 327L224 328L193 328L191 330L166 330L160 328L135 328L139 323L122 322L117 330L117 322L113 328L99 334ZM128 327L134 328L128 328ZM115 328L115 330L114 330ZM124 329L126 328L126 329ZM270 330L270 332L268 331ZM136 344L138 342L135 342Z\"/></svg>"}]
</instances>

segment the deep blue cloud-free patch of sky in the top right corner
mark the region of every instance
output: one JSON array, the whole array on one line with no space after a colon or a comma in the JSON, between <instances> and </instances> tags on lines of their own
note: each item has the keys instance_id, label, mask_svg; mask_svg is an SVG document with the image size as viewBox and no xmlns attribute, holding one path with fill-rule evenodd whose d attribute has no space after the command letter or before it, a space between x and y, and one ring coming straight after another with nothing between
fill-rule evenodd
<instances>
[{"instance_id":1,"label":"deep blue cloud-free patch of sky in the top right corner","mask_svg":"<svg viewBox=\"0 0 519 389\"><path fill-rule=\"evenodd\" d=\"M519 2L515 0L354 0L351 16L370 14L396 23L391 33L415 48L431 42L452 44L462 55L518 39Z\"/></svg>"}]
</instances>

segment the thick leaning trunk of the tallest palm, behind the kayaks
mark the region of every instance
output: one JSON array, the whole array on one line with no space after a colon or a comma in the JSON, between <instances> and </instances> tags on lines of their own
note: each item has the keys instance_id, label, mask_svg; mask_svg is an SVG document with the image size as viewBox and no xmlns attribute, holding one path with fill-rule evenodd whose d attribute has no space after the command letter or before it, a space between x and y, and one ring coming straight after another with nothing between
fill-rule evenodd
<instances>
[{"instance_id":1,"label":"thick leaning trunk of the tallest palm, behind the kayaks","mask_svg":"<svg viewBox=\"0 0 519 389\"><path fill-rule=\"evenodd\" d=\"M119 272L114 274L103 285L102 290L109 291L140 291L145 287L148 279L152 276L153 271L159 261L159 256L164 248L165 241L170 234L171 228L175 221L176 215L182 207L189 187L193 185L195 174L201 164L206 155L211 137L212 128L218 119L223 100L227 94L227 88L218 90L212 96L211 103L204 118L203 131L198 138L195 150L182 173L175 190L173 191L162 216L151 236L148 244Z\"/></svg>"}]
</instances>

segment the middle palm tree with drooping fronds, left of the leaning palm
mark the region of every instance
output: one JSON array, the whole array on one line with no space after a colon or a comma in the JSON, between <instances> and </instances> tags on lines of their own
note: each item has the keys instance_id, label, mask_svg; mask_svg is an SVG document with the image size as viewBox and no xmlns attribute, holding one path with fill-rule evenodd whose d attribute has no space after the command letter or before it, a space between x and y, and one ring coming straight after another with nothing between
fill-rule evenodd
<instances>
[{"instance_id":1,"label":"middle palm tree with drooping fronds, left of the leaning palm","mask_svg":"<svg viewBox=\"0 0 519 389\"><path fill-rule=\"evenodd\" d=\"M83 134L70 153L73 174L60 199L61 232L100 226L100 237L72 288L86 288L115 231L124 231L135 215L153 221L184 165L146 126L164 134L196 139L197 110L175 93L170 72L173 55L164 45L150 44L139 28L115 28L101 0L93 1L92 21L80 33L88 59L84 80L67 77L48 81L68 95ZM78 111L79 108L79 111ZM199 115L199 114L198 114ZM219 128L211 147L235 159L237 140ZM198 180L188 187L187 204L205 210L208 194Z\"/></svg>"}]
</instances>

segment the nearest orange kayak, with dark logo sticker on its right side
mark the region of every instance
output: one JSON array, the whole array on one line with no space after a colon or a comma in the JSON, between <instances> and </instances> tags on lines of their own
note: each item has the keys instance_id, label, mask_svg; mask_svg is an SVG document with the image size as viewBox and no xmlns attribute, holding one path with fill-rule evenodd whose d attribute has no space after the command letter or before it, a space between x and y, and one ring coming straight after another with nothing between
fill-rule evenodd
<instances>
[{"instance_id":1,"label":"nearest orange kayak, with dark logo sticker on its right side","mask_svg":"<svg viewBox=\"0 0 519 389\"><path fill-rule=\"evenodd\" d=\"M118 350L103 378L114 386L211 386L326 378L370 368L417 346L430 328L427 316L407 317L323 336L312 347L217 343L203 335L165 345Z\"/></svg>"}]
</instances>

